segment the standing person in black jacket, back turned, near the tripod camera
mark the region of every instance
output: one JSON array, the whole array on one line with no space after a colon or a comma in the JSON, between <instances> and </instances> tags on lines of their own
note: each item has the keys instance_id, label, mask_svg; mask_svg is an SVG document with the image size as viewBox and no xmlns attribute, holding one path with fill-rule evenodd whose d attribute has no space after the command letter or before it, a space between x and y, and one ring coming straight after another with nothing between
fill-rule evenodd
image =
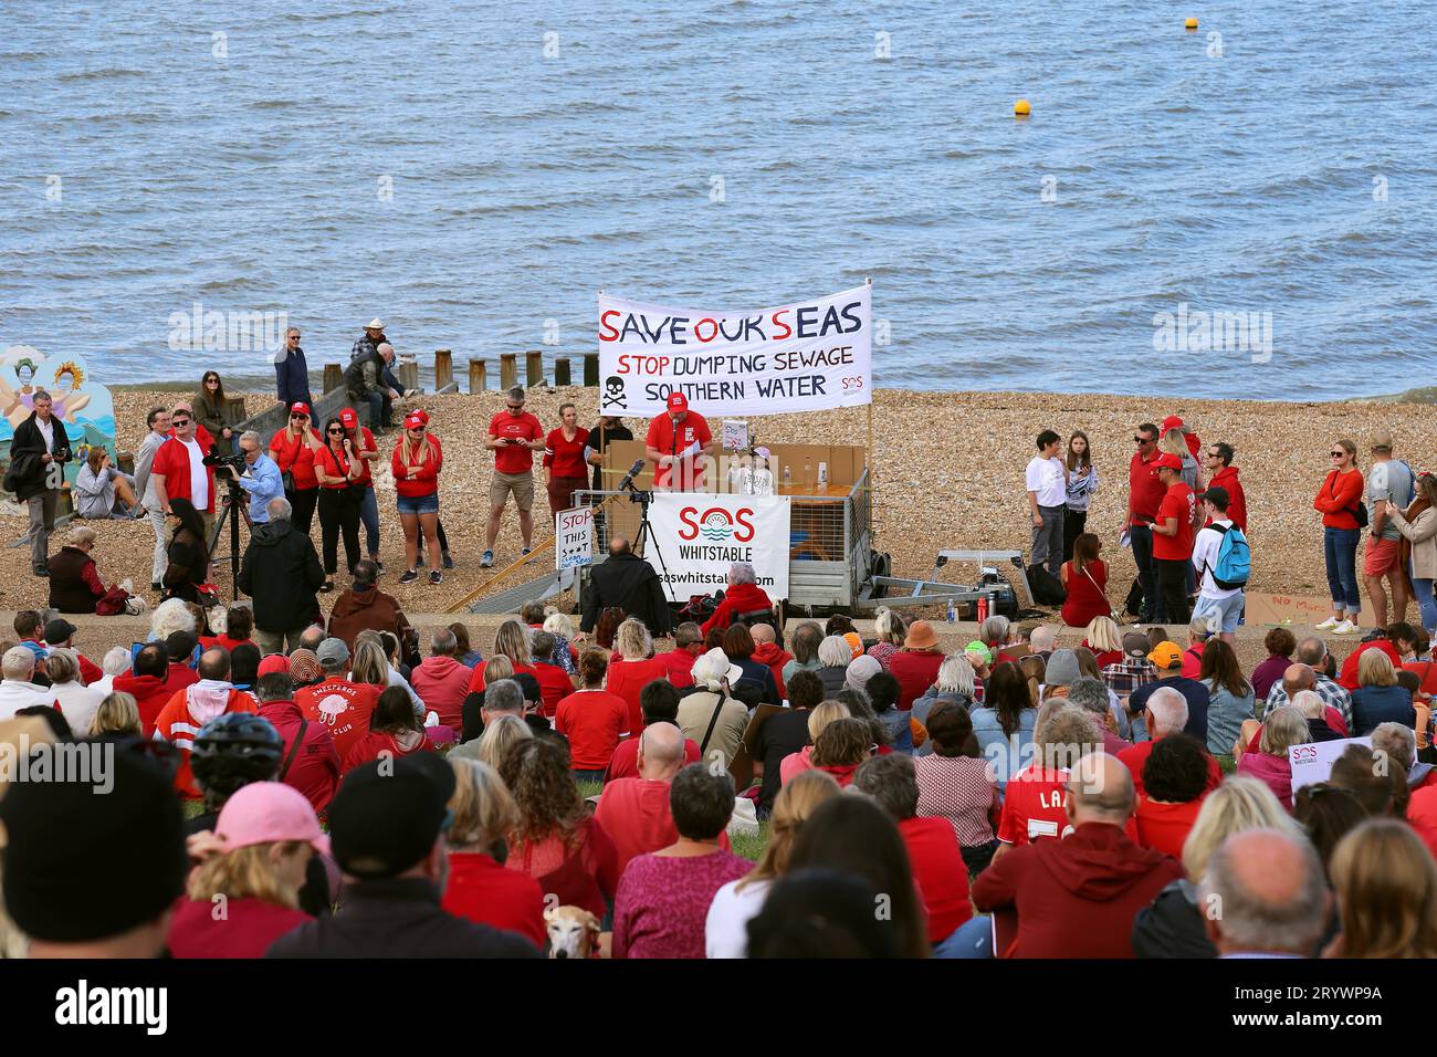
<instances>
[{"instance_id":1,"label":"standing person in black jacket, back turned, near the tripod camera","mask_svg":"<svg viewBox=\"0 0 1437 1057\"><path fill-rule=\"evenodd\" d=\"M290 525L289 500L269 500L269 522L257 525L244 548L236 584L254 600L254 640L264 653L299 649L299 637L319 611L323 582L315 542Z\"/></svg>"}]
</instances>

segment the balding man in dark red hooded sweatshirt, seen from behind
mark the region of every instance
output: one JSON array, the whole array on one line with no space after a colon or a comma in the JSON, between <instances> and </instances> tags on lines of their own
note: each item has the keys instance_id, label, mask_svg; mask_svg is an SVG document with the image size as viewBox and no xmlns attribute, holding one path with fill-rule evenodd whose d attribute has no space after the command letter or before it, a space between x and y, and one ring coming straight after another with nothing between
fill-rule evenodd
<instances>
[{"instance_id":1,"label":"balding man in dark red hooded sweatshirt, seen from behind","mask_svg":"<svg viewBox=\"0 0 1437 1057\"><path fill-rule=\"evenodd\" d=\"M1132 919L1181 876L1173 859L1128 840L1137 798L1121 762L1098 752L1066 775L1072 833L994 859L973 882L977 910L1017 913L1004 953L1019 958L1131 958Z\"/></svg>"}]
</instances>

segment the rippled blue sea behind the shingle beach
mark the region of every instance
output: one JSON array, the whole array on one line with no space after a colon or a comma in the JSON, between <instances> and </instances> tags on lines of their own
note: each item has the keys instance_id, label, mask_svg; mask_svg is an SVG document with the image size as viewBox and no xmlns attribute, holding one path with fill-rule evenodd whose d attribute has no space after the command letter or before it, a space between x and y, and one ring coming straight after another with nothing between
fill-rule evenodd
<instances>
[{"instance_id":1,"label":"rippled blue sea behind the shingle beach","mask_svg":"<svg viewBox=\"0 0 1437 1057\"><path fill-rule=\"evenodd\" d=\"M879 385L1431 384L1431 23L1335 0L0 3L0 348L106 383L272 378L259 338L172 348L198 303L287 314L312 365L375 315L421 357L576 357L598 288L741 309L871 276ZM1191 345L1154 351L1163 312ZM1243 314L1257 348L1220 326L1203 351L1198 312Z\"/></svg>"}]
</instances>

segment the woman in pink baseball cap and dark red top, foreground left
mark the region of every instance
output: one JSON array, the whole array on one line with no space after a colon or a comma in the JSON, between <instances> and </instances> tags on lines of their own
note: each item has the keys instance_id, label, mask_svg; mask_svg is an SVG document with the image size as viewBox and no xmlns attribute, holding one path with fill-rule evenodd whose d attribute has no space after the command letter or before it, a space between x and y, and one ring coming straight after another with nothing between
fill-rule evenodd
<instances>
[{"instance_id":1,"label":"woman in pink baseball cap and dark red top, foreground left","mask_svg":"<svg viewBox=\"0 0 1437 1057\"><path fill-rule=\"evenodd\" d=\"M200 866L170 922L175 958L263 958L309 920L299 890L310 856L329 838L305 795L283 782L251 782L224 802L213 833L190 838ZM216 913L223 906L224 913Z\"/></svg>"}]
</instances>

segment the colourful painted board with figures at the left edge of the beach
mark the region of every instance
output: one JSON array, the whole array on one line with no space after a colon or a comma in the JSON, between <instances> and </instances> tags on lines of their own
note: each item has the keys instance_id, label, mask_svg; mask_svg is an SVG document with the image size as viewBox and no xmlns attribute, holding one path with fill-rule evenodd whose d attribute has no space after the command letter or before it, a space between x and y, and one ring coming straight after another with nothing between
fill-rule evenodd
<instances>
[{"instance_id":1,"label":"colourful painted board with figures at the left edge of the beach","mask_svg":"<svg viewBox=\"0 0 1437 1057\"><path fill-rule=\"evenodd\" d=\"M46 357L30 345L0 352L0 457L10 462L14 429L30 417L34 393L50 394L55 416L65 423L75 457L65 466L65 480L75 483L92 447L115 453L115 401L91 377L83 357Z\"/></svg>"}]
</instances>

